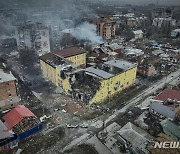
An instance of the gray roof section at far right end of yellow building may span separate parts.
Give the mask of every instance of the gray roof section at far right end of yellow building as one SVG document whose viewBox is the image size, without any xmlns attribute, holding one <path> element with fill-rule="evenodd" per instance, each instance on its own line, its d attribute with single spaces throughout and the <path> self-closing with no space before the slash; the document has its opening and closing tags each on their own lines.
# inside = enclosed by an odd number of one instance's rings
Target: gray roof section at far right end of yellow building
<svg viewBox="0 0 180 154">
<path fill-rule="evenodd" d="M 110 60 L 110 61 L 105 62 L 105 64 L 118 67 L 123 70 L 128 70 L 137 66 L 136 64 L 130 63 L 125 60 Z"/>
</svg>

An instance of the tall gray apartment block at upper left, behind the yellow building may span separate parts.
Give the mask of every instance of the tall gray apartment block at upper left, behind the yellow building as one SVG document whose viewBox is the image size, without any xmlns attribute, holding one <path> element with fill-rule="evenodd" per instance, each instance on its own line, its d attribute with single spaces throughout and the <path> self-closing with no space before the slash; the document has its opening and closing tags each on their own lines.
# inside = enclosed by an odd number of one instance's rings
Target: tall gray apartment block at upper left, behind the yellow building
<svg viewBox="0 0 180 154">
<path fill-rule="evenodd" d="M 38 55 L 50 52 L 49 30 L 42 25 L 23 25 L 15 30 L 17 48 L 34 49 Z"/>
</svg>

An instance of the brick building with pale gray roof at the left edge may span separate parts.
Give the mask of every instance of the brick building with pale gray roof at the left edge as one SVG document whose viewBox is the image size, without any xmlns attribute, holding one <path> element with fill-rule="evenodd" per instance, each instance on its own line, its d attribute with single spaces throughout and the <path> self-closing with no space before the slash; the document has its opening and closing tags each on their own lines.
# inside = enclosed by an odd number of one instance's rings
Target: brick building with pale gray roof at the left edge
<svg viewBox="0 0 180 154">
<path fill-rule="evenodd" d="M 13 108 L 20 101 L 16 78 L 3 64 L 0 62 L 0 110 Z"/>
</svg>

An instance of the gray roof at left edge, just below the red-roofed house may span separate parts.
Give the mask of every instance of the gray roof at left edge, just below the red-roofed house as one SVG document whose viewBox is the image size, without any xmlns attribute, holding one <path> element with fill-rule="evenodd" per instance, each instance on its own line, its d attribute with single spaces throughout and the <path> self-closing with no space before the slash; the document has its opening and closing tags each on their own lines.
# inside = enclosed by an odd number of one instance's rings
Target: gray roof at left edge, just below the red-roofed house
<svg viewBox="0 0 180 154">
<path fill-rule="evenodd" d="M 7 131 L 7 127 L 0 120 L 0 139 L 11 137 L 14 133 L 12 131 Z"/>
</svg>

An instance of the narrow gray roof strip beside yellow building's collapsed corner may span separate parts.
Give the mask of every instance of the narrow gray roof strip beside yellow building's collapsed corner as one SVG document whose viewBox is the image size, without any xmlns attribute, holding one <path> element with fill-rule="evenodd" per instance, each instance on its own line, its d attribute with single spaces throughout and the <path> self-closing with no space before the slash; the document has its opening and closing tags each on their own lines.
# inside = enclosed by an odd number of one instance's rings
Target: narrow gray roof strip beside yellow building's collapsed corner
<svg viewBox="0 0 180 154">
<path fill-rule="evenodd" d="M 103 79 L 111 78 L 114 76 L 113 74 L 110 74 L 108 72 L 105 72 L 103 70 L 100 70 L 100 69 L 97 69 L 94 67 L 88 67 L 85 69 L 85 71 L 88 72 L 88 74 L 90 74 L 90 75 L 95 75 L 95 76 L 103 78 Z"/>
</svg>

